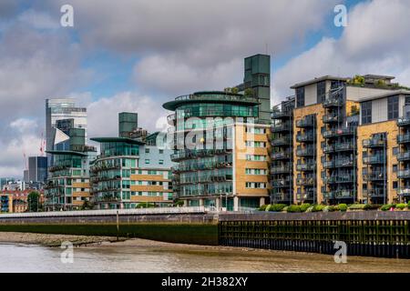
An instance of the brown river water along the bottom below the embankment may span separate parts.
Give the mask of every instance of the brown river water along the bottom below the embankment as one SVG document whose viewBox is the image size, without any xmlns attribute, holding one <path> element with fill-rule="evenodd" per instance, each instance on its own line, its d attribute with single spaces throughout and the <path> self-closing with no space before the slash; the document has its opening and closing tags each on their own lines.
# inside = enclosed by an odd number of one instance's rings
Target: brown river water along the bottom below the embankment
<svg viewBox="0 0 410 291">
<path fill-rule="evenodd" d="M 84 246 L 73 263 L 57 247 L 0 244 L 0 272 L 410 272 L 410 260 L 193 246 Z"/>
</svg>

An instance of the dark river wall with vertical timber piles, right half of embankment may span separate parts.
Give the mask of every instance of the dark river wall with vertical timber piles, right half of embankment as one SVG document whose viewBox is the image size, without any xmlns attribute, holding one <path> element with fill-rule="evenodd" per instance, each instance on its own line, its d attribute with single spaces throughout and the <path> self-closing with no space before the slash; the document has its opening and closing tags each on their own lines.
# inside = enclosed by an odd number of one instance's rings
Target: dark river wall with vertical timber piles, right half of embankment
<svg viewBox="0 0 410 291">
<path fill-rule="evenodd" d="M 219 217 L 222 246 L 410 258 L 410 212 L 258 213 Z"/>
</svg>

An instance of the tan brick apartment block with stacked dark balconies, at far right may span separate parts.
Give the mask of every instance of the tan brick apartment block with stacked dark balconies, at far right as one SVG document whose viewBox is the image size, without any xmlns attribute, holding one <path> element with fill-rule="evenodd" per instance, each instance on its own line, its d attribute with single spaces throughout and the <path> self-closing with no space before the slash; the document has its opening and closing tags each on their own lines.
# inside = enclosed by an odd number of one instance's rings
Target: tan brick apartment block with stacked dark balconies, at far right
<svg viewBox="0 0 410 291">
<path fill-rule="evenodd" d="M 405 194 L 405 178 L 401 183 L 398 179 L 407 168 L 404 157 L 398 165 L 394 154 L 389 156 L 389 149 L 395 148 L 397 153 L 406 150 L 396 142 L 396 136 L 406 132 L 397 121 L 406 91 L 399 90 L 393 79 L 326 75 L 292 85 L 293 110 L 286 107 L 288 100 L 272 112 L 273 149 L 281 149 L 278 144 L 282 149 L 292 148 L 292 160 L 286 156 L 286 162 L 292 164 L 292 190 L 285 187 L 289 172 L 278 173 L 272 166 L 273 195 L 286 194 L 289 189 L 293 203 L 336 204 L 392 202 L 399 186 Z M 289 134 L 292 142 L 286 146 L 281 137 Z M 272 156 L 272 165 L 283 164 L 281 158 Z M 281 195 L 276 199 L 281 200 Z"/>
</svg>

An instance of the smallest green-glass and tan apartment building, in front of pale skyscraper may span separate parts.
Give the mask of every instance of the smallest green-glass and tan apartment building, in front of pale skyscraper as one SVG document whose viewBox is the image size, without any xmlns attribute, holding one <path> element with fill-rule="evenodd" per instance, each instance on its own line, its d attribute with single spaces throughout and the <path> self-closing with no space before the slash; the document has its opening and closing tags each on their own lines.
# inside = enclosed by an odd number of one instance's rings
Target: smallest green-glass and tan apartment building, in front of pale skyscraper
<svg viewBox="0 0 410 291">
<path fill-rule="evenodd" d="M 89 165 L 97 156 L 94 146 L 86 146 L 85 129 L 69 130 L 69 150 L 50 150 L 54 165 L 45 186 L 46 211 L 77 210 L 90 201 Z"/>
</svg>

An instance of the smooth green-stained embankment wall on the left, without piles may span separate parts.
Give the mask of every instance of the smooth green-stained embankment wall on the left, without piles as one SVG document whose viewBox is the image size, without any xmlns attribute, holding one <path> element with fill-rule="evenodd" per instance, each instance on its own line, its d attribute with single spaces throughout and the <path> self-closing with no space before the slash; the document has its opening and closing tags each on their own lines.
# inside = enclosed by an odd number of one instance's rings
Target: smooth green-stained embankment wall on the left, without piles
<svg viewBox="0 0 410 291">
<path fill-rule="evenodd" d="M 118 216 L 0 216 L 0 231 L 27 233 L 124 236 L 171 243 L 218 245 L 217 216 L 208 214 Z"/>
</svg>

